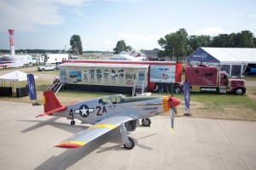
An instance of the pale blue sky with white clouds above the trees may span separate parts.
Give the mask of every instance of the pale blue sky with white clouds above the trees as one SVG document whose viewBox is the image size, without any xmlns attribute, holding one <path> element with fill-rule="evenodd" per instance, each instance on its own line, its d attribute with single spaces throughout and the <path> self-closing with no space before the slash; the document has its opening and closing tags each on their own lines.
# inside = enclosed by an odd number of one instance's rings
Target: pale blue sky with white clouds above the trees
<svg viewBox="0 0 256 170">
<path fill-rule="evenodd" d="M 158 40 L 184 28 L 189 36 L 252 31 L 255 0 L 0 0 L 0 49 L 113 51 L 119 40 L 134 50 L 160 48 Z"/>
</svg>

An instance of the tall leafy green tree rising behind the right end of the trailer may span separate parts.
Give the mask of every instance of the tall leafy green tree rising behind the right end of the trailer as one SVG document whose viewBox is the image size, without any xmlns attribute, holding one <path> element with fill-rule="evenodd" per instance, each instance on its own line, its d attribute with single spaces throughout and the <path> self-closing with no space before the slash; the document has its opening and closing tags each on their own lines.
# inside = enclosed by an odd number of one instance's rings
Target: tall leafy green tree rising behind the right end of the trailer
<svg viewBox="0 0 256 170">
<path fill-rule="evenodd" d="M 160 52 L 160 56 L 167 55 L 171 57 L 185 57 L 188 50 L 188 33 L 184 28 L 179 29 L 175 33 L 167 34 L 164 38 L 160 37 L 158 43 L 161 48 L 164 48 L 163 52 Z"/>
</svg>

